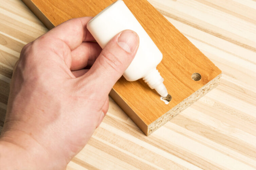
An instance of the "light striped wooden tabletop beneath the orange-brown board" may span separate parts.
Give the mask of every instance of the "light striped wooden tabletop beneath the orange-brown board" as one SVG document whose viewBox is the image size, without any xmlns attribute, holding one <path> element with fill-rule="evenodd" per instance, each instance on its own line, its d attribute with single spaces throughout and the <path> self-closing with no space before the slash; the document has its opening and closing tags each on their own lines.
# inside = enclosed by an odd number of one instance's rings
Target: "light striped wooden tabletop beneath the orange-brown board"
<svg viewBox="0 0 256 170">
<path fill-rule="evenodd" d="M 256 1 L 149 2 L 222 70 L 221 84 L 150 136 L 110 98 L 103 123 L 67 169 L 255 169 Z M 0 131 L 13 66 L 45 32 L 21 0 L 1 0 Z"/>
</svg>

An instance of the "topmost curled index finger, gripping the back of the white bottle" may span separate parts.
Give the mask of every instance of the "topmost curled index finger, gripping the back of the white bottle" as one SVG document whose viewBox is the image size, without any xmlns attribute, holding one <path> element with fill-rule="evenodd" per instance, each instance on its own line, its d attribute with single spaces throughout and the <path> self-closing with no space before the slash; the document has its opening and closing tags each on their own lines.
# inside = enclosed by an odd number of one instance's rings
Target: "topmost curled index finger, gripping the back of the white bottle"
<svg viewBox="0 0 256 170">
<path fill-rule="evenodd" d="M 44 37 L 59 39 L 65 42 L 71 50 L 77 48 L 83 41 L 95 41 L 86 28 L 93 17 L 74 18 L 51 29 Z"/>
</svg>

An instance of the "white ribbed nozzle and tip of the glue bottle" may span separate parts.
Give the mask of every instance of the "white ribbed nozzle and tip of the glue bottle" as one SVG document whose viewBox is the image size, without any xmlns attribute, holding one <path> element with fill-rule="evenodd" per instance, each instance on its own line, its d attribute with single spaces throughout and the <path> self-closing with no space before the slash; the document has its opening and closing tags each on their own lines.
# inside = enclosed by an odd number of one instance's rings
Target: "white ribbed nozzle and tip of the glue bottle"
<svg viewBox="0 0 256 170">
<path fill-rule="evenodd" d="M 155 89 L 162 97 L 168 95 L 167 89 L 163 84 L 164 79 L 161 77 L 157 68 L 154 68 L 143 77 L 143 80 L 148 84 L 151 89 Z"/>
</svg>

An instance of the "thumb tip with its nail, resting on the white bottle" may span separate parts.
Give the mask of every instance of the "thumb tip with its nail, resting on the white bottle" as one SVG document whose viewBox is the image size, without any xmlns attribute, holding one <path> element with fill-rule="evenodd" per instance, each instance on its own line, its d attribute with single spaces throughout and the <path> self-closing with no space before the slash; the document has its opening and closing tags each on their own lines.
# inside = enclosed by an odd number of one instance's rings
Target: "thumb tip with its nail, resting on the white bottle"
<svg viewBox="0 0 256 170">
<path fill-rule="evenodd" d="M 139 36 L 131 30 L 124 30 L 117 38 L 117 44 L 125 51 L 132 53 L 139 44 Z"/>
</svg>

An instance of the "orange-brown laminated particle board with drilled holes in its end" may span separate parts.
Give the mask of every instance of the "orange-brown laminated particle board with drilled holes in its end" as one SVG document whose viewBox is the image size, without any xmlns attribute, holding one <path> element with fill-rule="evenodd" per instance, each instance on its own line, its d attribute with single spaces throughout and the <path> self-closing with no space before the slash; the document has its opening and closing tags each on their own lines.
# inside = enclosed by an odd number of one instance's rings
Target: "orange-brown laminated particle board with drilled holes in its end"
<svg viewBox="0 0 256 170">
<path fill-rule="evenodd" d="M 49 29 L 71 18 L 95 16 L 114 1 L 23 0 Z M 217 86 L 221 70 L 149 2 L 124 2 L 163 54 L 157 69 L 172 100 L 166 105 L 142 79 L 128 82 L 124 77 L 114 85 L 110 96 L 149 135 Z"/>
</svg>

